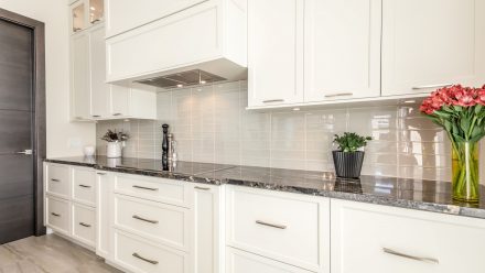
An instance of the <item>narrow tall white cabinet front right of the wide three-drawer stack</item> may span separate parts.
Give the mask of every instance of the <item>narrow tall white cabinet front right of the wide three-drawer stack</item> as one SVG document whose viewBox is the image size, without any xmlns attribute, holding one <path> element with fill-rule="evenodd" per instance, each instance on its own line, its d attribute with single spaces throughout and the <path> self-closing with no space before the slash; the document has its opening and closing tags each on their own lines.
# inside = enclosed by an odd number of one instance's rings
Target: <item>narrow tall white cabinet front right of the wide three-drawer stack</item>
<svg viewBox="0 0 485 273">
<path fill-rule="evenodd" d="M 194 185 L 194 184 L 193 184 Z M 194 215 L 194 272 L 222 273 L 223 219 L 220 186 L 195 184 L 193 186 Z"/>
</svg>

